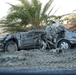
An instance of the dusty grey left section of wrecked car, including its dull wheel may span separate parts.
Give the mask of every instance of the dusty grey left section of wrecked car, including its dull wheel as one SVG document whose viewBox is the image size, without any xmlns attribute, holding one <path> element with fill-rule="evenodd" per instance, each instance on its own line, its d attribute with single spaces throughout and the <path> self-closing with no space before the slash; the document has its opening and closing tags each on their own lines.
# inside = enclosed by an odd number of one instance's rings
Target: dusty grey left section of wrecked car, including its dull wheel
<svg viewBox="0 0 76 75">
<path fill-rule="evenodd" d="M 47 49 L 55 48 L 45 30 L 30 30 L 8 34 L 0 39 L 0 49 L 14 52 L 20 49 Z"/>
</svg>

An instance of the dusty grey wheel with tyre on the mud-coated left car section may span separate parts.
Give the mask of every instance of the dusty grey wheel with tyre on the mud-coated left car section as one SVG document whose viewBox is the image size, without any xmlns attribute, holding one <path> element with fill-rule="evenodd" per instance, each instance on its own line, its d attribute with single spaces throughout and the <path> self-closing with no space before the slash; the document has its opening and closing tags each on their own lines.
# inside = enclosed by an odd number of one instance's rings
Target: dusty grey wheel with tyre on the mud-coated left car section
<svg viewBox="0 0 76 75">
<path fill-rule="evenodd" d="M 5 51 L 8 51 L 8 52 L 15 52 L 18 50 L 18 46 L 14 41 L 6 42 L 4 48 L 5 48 Z"/>
</svg>

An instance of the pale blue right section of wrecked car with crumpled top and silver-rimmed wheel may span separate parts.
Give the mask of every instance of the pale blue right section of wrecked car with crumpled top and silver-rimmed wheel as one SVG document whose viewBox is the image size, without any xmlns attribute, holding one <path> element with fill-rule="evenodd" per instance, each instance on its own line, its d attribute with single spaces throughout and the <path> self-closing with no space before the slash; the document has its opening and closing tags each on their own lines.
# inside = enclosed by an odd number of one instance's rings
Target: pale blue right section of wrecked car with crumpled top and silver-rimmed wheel
<svg viewBox="0 0 76 75">
<path fill-rule="evenodd" d="M 66 29 L 59 20 L 54 20 L 46 31 L 52 36 L 56 48 L 70 49 L 76 44 L 76 32 Z"/>
</svg>

